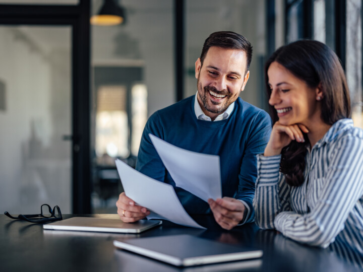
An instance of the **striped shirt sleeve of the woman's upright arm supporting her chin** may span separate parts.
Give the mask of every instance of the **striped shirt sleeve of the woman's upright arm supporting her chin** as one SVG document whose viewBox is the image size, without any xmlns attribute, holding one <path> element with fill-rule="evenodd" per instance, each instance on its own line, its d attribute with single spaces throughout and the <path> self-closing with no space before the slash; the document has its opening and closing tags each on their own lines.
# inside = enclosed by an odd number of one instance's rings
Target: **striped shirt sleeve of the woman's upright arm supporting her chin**
<svg viewBox="0 0 363 272">
<path fill-rule="evenodd" d="M 278 213 L 290 210 L 290 188 L 279 172 L 281 155 L 257 156 L 256 194 L 253 202 L 256 224 L 262 229 L 274 229 Z"/>
</svg>

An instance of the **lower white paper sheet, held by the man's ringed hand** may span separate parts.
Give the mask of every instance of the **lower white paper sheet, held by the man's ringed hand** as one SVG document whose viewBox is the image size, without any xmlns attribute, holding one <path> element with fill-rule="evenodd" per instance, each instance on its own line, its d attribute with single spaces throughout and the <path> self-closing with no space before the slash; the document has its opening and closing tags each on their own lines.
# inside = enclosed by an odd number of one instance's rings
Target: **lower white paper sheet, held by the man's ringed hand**
<svg viewBox="0 0 363 272">
<path fill-rule="evenodd" d="M 126 195 L 138 205 L 160 215 L 157 217 L 153 214 L 153 218 L 164 218 L 179 225 L 205 229 L 184 210 L 170 184 L 150 178 L 123 161 L 116 160 L 115 163 Z"/>
</svg>

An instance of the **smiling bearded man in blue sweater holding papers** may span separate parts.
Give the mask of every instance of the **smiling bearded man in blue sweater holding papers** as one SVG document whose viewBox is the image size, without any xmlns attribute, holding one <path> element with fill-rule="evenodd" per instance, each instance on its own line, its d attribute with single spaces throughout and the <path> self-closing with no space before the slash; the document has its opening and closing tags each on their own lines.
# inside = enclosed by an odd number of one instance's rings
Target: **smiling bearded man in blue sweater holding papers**
<svg viewBox="0 0 363 272">
<path fill-rule="evenodd" d="M 149 118 L 136 163 L 141 173 L 173 185 L 189 214 L 212 213 L 228 230 L 254 221 L 256 155 L 263 153 L 271 132 L 269 115 L 238 97 L 249 79 L 251 58 L 252 46 L 245 37 L 234 32 L 212 33 L 195 63 L 197 94 Z M 223 197 L 207 203 L 175 187 L 149 133 L 183 149 L 220 156 Z M 116 206 L 124 222 L 149 215 L 124 192 Z"/>
</svg>

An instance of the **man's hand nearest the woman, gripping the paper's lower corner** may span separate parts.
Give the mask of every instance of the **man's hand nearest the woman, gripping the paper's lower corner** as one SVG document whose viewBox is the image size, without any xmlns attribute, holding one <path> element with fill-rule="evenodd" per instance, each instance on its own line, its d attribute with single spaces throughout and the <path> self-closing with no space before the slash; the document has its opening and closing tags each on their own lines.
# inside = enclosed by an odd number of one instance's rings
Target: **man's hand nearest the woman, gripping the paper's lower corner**
<svg viewBox="0 0 363 272">
<path fill-rule="evenodd" d="M 208 204 L 215 221 L 226 230 L 237 226 L 244 219 L 245 213 L 247 213 L 244 203 L 231 197 L 225 196 L 217 198 L 215 201 L 209 198 Z"/>
</svg>

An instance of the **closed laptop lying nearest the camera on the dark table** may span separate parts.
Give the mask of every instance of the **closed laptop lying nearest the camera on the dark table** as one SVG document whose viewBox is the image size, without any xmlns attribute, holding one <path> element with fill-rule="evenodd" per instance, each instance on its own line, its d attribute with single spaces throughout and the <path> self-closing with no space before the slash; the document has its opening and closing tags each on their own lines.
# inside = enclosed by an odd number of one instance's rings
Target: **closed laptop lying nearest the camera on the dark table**
<svg viewBox="0 0 363 272">
<path fill-rule="evenodd" d="M 113 245 L 177 266 L 260 258 L 260 249 L 224 244 L 192 235 L 114 240 Z"/>
</svg>

